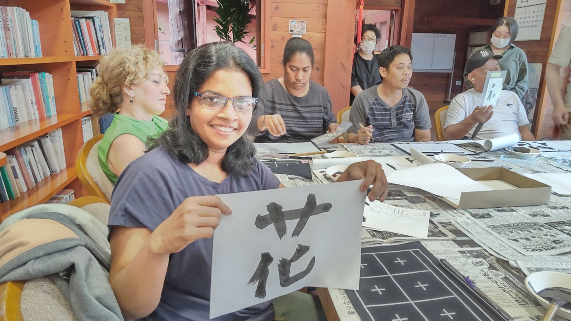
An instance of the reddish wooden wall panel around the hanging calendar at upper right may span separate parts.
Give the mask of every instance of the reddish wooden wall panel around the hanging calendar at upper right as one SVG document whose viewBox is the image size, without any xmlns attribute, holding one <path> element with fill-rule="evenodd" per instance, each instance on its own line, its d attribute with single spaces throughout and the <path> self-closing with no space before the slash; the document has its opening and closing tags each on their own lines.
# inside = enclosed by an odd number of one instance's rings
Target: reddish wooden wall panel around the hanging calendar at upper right
<svg viewBox="0 0 571 321">
<path fill-rule="evenodd" d="M 506 0 L 506 14 L 513 17 L 516 12 L 516 0 Z M 545 5 L 545 17 L 543 28 L 541 29 L 541 39 L 537 41 L 516 41 L 515 45 L 525 51 L 529 63 L 541 63 L 541 78 L 537 93 L 536 111 L 533 117 L 532 133 L 536 138 L 551 137 L 557 138 L 557 130 L 551 120 L 553 105 L 547 94 L 545 85 L 545 66 L 549 59 L 549 54 L 553 47 L 554 37 L 560 25 L 558 25 L 558 14 L 561 3 L 565 0 L 547 1 Z M 549 113 L 549 114 L 547 114 Z M 552 128 L 553 127 L 553 128 Z"/>
</svg>

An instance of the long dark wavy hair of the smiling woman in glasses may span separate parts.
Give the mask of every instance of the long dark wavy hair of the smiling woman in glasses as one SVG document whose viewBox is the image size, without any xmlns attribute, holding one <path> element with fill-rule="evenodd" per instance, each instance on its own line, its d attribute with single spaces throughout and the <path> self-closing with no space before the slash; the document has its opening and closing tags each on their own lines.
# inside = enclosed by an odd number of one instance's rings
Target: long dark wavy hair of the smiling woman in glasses
<svg viewBox="0 0 571 321">
<path fill-rule="evenodd" d="M 175 153 L 183 163 L 200 164 L 208 158 L 208 147 L 192 129 L 190 117 L 186 114 L 195 91 L 219 69 L 242 71 L 252 86 L 252 97 L 259 97 L 262 90 L 262 74 L 252 58 L 230 42 L 212 42 L 192 50 L 182 61 L 174 83 L 176 116 L 170 121 L 168 129 L 158 138 L 149 139 L 149 150 L 163 147 Z M 198 98 L 197 98 L 198 99 Z M 252 112 L 252 122 L 248 132 L 254 133 L 256 119 L 262 115 L 258 103 Z M 245 176 L 252 170 L 256 147 L 244 134 L 226 150 L 222 159 L 222 170 L 229 175 Z"/>
</svg>

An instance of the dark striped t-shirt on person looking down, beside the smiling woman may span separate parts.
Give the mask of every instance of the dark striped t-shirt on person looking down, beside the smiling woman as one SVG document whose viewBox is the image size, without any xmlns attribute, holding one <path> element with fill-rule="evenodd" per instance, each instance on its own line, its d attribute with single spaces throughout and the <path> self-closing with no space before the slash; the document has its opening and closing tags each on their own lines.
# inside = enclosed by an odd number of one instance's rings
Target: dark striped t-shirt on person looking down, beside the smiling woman
<svg viewBox="0 0 571 321">
<path fill-rule="evenodd" d="M 286 124 L 286 135 L 272 136 L 264 131 L 256 142 L 307 142 L 327 131 L 329 124 L 335 122 L 331 109 L 331 97 L 325 87 L 309 81 L 309 91 L 304 97 L 296 97 L 287 92 L 278 79 L 272 79 L 264 85 L 265 93 L 260 95 L 267 115 L 282 115 Z"/>
</svg>

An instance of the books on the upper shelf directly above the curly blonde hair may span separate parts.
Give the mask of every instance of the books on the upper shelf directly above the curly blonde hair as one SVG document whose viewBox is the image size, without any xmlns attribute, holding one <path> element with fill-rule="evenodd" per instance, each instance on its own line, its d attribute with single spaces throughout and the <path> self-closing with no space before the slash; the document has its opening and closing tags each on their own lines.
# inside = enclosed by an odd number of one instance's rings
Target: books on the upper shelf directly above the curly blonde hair
<svg viewBox="0 0 571 321">
<path fill-rule="evenodd" d="M 106 55 L 112 50 L 106 11 L 71 10 L 75 55 Z"/>
</svg>

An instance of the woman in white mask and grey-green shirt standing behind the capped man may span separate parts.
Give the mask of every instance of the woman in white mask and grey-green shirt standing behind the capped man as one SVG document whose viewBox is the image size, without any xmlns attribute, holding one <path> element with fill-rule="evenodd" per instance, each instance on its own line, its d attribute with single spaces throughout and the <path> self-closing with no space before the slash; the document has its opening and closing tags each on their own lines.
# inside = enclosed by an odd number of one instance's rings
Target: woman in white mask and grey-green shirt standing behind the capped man
<svg viewBox="0 0 571 321">
<path fill-rule="evenodd" d="M 513 91 L 523 100 L 525 93 L 528 91 L 528 58 L 525 51 L 513 45 L 513 41 L 517 37 L 517 22 L 512 17 L 500 18 L 490 28 L 490 43 L 484 47 L 477 47 L 472 50 L 472 55 L 478 50 L 488 48 L 495 55 L 501 55 L 503 58 L 498 60 L 501 70 L 508 73 L 505 76 L 504 90 Z M 467 89 L 471 89 L 474 85 L 468 80 L 468 75 L 464 71 L 464 84 Z"/>
</svg>

